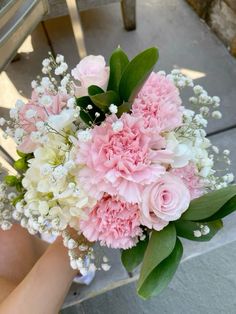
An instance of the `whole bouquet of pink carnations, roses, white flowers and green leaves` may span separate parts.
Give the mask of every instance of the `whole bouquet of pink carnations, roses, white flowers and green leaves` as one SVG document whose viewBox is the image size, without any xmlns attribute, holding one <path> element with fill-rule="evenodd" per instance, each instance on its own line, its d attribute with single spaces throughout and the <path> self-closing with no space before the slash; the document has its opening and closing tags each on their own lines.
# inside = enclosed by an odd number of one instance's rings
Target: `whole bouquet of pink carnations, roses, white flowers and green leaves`
<svg viewBox="0 0 236 314">
<path fill-rule="evenodd" d="M 90 55 L 68 73 L 64 57 L 49 54 L 31 99 L 0 119 L 19 155 L 18 174 L 0 186 L 1 227 L 62 235 L 81 274 L 111 267 L 97 262 L 94 243 L 121 249 L 127 271 L 141 264 L 144 299 L 173 277 L 180 238 L 210 240 L 236 208 L 230 152 L 205 132 L 207 118 L 221 118 L 219 97 L 177 69 L 153 72 L 157 60 L 155 47 L 131 61 L 117 48 L 109 66 Z"/>
</svg>

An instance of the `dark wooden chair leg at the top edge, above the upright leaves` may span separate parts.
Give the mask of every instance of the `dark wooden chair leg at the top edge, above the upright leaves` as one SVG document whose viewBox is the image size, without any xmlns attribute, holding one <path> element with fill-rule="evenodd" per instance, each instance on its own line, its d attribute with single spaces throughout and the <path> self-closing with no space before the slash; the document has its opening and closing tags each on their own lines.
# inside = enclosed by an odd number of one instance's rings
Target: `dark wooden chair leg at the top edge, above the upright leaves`
<svg viewBox="0 0 236 314">
<path fill-rule="evenodd" d="M 125 29 L 136 29 L 136 0 L 121 0 L 121 11 Z"/>
</svg>

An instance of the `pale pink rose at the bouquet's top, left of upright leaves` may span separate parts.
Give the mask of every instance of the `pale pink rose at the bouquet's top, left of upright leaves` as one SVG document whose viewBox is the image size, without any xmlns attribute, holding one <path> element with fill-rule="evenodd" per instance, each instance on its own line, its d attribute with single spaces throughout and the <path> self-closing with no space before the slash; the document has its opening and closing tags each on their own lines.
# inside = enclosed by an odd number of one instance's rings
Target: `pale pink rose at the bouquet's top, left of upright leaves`
<svg viewBox="0 0 236 314">
<path fill-rule="evenodd" d="M 72 76 L 80 81 L 80 86 L 75 85 L 75 95 L 77 97 L 88 95 L 88 87 L 96 85 L 106 90 L 109 67 L 103 56 L 87 56 L 71 71 Z"/>
</svg>

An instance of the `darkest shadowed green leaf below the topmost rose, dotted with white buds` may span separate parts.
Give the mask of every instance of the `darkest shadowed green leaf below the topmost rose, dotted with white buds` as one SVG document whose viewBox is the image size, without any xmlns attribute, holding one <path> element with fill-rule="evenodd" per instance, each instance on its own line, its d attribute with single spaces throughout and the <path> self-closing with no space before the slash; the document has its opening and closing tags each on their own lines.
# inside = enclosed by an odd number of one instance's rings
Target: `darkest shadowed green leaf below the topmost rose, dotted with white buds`
<svg viewBox="0 0 236 314">
<path fill-rule="evenodd" d="M 77 98 L 76 104 L 77 106 L 80 107 L 80 118 L 87 125 L 91 126 L 91 124 L 95 121 L 95 119 L 97 122 L 103 121 L 105 119 L 104 113 L 93 104 L 89 96 L 83 96 L 83 97 Z M 88 110 L 87 109 L 88 105 L 91 105 L 93 108 L 91 110 Z M 95 117 L 95 112 L 100 113 L 99 118 Z"/>
</svg>

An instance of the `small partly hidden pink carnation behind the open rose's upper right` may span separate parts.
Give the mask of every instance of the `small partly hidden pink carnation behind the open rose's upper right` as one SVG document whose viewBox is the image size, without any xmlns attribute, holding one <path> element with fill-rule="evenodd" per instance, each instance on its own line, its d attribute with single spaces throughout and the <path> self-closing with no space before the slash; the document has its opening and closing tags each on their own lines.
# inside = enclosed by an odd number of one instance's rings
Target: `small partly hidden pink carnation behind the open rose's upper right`
<svg viewBox="0 0 236 314">
<path fill-rule="evenodd" d="M 170 173 L 182 179 L 186 187 L 189 189 L 191 200 L 203 195 L 204 186 L 200 177 L 197 175 L 197 169 L 193 163 L 182 168 L 172 169 Z"/>
</svg>

